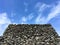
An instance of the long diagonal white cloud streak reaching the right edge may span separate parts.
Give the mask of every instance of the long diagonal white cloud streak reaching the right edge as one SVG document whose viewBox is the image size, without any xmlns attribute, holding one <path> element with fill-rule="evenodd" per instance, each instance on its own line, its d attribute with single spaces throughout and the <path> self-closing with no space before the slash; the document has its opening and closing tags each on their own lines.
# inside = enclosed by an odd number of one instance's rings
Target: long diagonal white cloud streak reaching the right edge
<svg viewBox="0 0 60 45">
<path fill-rule="evenodd" d="M 60 13 L 60 2 L 59 2 L 56 6 L 54 6 L 54 7 L 52 8 L 51 12 L 50 12 L 49 15 L 48 15 L 47 20 L 49 21 L 49 20 L 51 20 L 52 18 L 58 16 L 59 13 Z"/>
</svg>

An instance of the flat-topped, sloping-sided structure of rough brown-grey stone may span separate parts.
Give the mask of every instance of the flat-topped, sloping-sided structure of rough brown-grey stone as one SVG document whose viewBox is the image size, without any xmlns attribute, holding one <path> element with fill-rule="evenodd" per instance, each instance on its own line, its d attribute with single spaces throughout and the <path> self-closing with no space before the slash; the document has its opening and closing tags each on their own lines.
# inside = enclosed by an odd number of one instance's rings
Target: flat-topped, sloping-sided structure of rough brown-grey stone
<svg viewBox="0 0 60 45">
<path fill-rule="evenodd" d="M 60 37 L 50 24 L 10 24 L 0 45 L 59 45 Z"/>
</svg>

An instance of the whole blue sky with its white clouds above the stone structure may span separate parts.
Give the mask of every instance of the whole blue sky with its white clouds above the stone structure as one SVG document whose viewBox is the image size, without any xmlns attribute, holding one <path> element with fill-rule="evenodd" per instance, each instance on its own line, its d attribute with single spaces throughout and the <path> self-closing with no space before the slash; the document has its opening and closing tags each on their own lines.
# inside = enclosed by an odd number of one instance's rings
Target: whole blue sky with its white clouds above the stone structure
<svg viewBox="0 0 60 45">
<path fill-rule="evenodd" d="M 60 35 L 60 0 L 0 0 L 0 35 L 9 24 L 48 24 Z"/>
</svg>

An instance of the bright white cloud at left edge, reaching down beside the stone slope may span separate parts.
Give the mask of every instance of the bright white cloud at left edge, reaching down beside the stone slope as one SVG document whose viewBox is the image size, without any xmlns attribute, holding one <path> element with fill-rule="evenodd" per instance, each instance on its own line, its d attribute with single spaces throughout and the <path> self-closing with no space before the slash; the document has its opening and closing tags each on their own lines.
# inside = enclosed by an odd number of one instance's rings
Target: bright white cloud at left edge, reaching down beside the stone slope
<svg viewBox="0 0 60 45">
<path fill-rule="evenodd" d="M 0 13 L 0 35 L 3 34 L 6 27 L 11 23 L 10 19 L 7 17 L 7 13 Z"/>
</svg>

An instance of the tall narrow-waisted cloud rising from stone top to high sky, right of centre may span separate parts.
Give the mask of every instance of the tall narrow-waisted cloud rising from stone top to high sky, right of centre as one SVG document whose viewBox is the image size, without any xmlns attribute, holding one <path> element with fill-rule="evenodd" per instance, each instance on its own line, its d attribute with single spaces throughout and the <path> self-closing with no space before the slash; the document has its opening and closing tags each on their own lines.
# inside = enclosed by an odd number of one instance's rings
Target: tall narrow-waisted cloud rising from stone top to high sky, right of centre
<svg viewBox="0 0 60 45">
<path fill-rule="evenodd" d="M 38 2 L 36 4 L 35 8 L 38 8 L 38 10 L 37 10 L 38 11 L 38 16 L 35 19 L 36 24 L 45 24 L 45 23 L 47 23 L 46 18 L 44 16 L 42 17 L 42 13 L 46 8 L 49 8 L 49 7 L 50 7 L 50 5 L 47 5 L 47 4 L 44 4 L 44 3 L 41 4 L 40 2 Z"/>
</svg>

